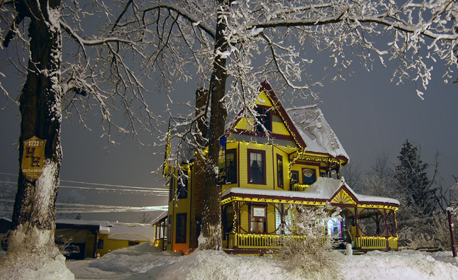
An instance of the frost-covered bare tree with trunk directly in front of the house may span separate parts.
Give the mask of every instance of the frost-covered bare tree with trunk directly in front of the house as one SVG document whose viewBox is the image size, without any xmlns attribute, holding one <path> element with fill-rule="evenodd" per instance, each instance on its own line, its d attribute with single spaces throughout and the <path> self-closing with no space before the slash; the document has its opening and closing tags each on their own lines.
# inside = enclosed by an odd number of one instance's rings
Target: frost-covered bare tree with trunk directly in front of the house
<svg viewBox="0 0 458 280">
<path fill-rule="evenodd" d="M 191 66 L 199 86 L 209 89 L 206 110 L 196 117 L 190 113 L 188 121 L 179 123 L 188 125 L 187 134 L 196 138 L 199 132 L 194 133 L 191 126 L 207 116 L 211 108 L 201 232 L 206 241 L 202 249 L 221 248 L 220 186 L 216 178 L 218 140 L 225 133 L 225 118 L 228 113 L 242 111 L 256 120 L 252 104 L 259 94 L 257 81 L 268 79 L 276 84 L 282 98 L 287 92 L 298 99 L 316 98 L 313 86 L 322 84 L 311 82 L 306 74 L 313 62 L 307 56 L 311 47 L 330 51 L 330 65 L 337 67 L 334 79 L 342 78 L 342 70 L 350 67 L 349 52 L 367 69 L 371 69 L 374 57 L 382 64 L 384 57 L 397 60 L 393 79 L 415 79 L 423 87 L 431 77 L 431 62 L 445 61 L 447 81 L 452 78 L 451 68 L 457 65 L 454 46 L 458 8 L 452 0 L 403 4 L 363 0 L 183 0 L 144 4 L 126 0 L 125 4 L 129 9 L 116 30 L 119 34 L 144 30 L 143 40 L 149 40 L 152 48 L 148 67 L 160 72 L 162 89 L 167 91 L 174 82 L 188 79 Z M 388 38 L 383 40 L 389 41 L 386 48 L 372 41 L 378 41 L 382 34 Z M 423 48 L 424 55 L 420 52 Z M 423 98 L 423 93 L 416 91 Z M 171 137 L 185 138 L 183 133 Z"/>
</svg>

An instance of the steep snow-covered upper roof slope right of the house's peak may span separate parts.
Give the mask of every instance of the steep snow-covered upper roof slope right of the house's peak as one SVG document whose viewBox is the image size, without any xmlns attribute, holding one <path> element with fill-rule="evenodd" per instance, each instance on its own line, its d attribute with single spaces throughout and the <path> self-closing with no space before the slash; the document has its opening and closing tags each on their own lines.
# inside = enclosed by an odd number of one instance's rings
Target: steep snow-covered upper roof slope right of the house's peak
<svg viewBox="0 0 458 280">
<path fill-rule="evenodd" d="M 306 142 L 306 150 L 321 152 L 350 160 L 333 129 L 316 105 L 286 109 L 299 134 Z"/>
</svg>

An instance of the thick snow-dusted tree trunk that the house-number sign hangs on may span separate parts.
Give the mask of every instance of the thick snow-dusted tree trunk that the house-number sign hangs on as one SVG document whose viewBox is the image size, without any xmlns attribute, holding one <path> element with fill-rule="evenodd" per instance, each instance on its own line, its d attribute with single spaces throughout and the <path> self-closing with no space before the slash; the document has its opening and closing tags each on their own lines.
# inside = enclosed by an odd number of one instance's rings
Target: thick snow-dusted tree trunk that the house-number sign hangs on
<svg viewBox="0 0 458 280">
<path fill-rule="evenodd" d="M 26 5 L 19 7 L 23 9 L 22 12 L 26 13 L 26 16 L 32 16 L 28 27 L 30 37 L 28 75 L 19 99 L 22 119 L 19 137 L 18 192 L 13 208 L 7 260 L 1 263 L 0 270 L 4 276 L 5 273 L 9 275 L 10 279 L 30 278 L 31 275 L 41 279 L 71 279 L 73 274 L 66 271 L 65 258 L 57 250 L 54 241 L 55 201 L 62 159 L 60 145 L 62 35 L 59 18 L 55 18 L 60 13 L 60 0 L 26 2 Z M 25 152 L 23 141 L 33 136 L 46 140 L 44 158 L 34 157 L 35 166 L 40 164 L 43 167 L 43 172 L 38 179 L 30 179 L 24 176 L 22 171 Z M 55 261 L 60 262 L 60 269 L 54 267 L 55 271 L 45 271 L 45 267 Z M 11 266 L 11 269 L 4 271 L 6 266 Z M 36 274 L 30 274 L 33 270 L 37 271 Z"/>
</svg>

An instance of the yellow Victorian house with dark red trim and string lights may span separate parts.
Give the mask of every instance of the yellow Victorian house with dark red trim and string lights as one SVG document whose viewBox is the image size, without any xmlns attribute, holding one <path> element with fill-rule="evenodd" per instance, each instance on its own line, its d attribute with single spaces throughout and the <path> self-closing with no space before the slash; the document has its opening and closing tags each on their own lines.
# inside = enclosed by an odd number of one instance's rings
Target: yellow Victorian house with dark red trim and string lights
<svg viewBox="0 0 458 280">
<path fill-rule="evenodd" d="M 205 92 L 197 91 L 198 110 L 204 103 L 201 96 Z M 268 133 L 242 111 L 228 118 L 232 125 L 226 130 L 225 150 L 220 154 L 223 247 L 227 252 L 272 249 L 285 234 L 281 225 L 294 219 L 291 208 L 323 206 L 327 201 L 342 208 L 343 218 L 328 224 L 330 234 L 351 242 L 355 250 L 398 248 L 399 202 L 356 194 L 340 179 L 340 168 L 350 159 L 318 106 L 286 110 L 264 82 L 255 110 Z M 203 123 L 197 125 L 205 135 Z M 161 222 L 168 223 L 167 250 L 176 252 L 197 246 L 203 202 L 203 160 L 192 141 L 185 142 L 188 146 L 178 152 L 177 141 L 169 139 L 164 164 L 169 211 Z M 333 174 L 337 179 L 332 179 Z"/>
</svg>

